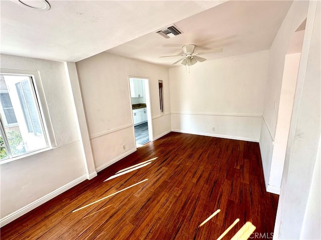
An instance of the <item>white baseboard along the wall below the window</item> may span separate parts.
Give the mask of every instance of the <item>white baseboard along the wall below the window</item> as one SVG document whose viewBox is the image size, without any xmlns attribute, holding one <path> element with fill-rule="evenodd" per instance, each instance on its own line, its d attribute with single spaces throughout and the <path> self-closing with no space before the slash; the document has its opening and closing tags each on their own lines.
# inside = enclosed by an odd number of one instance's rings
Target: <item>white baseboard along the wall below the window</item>
<svg viewBox="0 0 321 240">
<path fill-rule="evenodd" d="M 41 204 L 44 204 L 46 201 L 49 201 L 50 199 L 54 198 L 55 196 L 58 196 L 59 194 L 63 193 L 64 191 L 72 188 L 73 186 L 79 184 L 80 182 L 87 179 L 87 175 L 83 175 L 81 177 L 78 177 L 77 179 L 67 183 L 66 185 L 63 185 L 59 187 L 58 189 L 40 197 L 39 199 L 29 203 L 28 205 L 18 209 L 17 211 L 14 211 L 13 213 L 10 213 L 9 215 L 3 217 L 0 219 L 0 226 L 3 227 L 4 225 L 12 222 L 13 220 L 17 219 L 18 217 L 26 214 L 27 212 L 35 209 L 36 207 L 40 206 Z"/>
</svg>

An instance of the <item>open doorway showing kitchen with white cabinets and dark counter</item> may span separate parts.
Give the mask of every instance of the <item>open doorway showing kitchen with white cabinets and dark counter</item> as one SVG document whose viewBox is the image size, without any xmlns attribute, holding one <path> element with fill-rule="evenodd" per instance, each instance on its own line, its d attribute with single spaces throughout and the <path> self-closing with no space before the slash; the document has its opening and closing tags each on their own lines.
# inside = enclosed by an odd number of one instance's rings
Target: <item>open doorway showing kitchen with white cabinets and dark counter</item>
<svg viewBox="0 0 321 240">
<path fill-rule="evenodd" d="M 140 147 L 152 140 L 149 78 L 128 78 L 136 147 Z"/>
</svg>

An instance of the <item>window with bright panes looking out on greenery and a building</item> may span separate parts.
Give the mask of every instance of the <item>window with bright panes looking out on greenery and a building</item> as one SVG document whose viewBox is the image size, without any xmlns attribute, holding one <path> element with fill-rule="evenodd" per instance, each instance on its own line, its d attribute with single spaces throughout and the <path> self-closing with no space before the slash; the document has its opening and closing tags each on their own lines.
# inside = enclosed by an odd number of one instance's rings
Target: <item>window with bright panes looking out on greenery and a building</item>
<svg viewBox="0 0 321 240">
<path fill-rule="evenodd" d="M 0 160 L 48 147 L 32 75 L 0 75 Z"/>
</svg>

